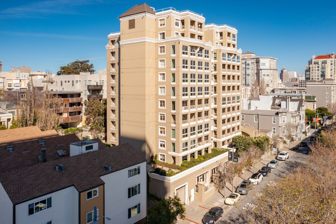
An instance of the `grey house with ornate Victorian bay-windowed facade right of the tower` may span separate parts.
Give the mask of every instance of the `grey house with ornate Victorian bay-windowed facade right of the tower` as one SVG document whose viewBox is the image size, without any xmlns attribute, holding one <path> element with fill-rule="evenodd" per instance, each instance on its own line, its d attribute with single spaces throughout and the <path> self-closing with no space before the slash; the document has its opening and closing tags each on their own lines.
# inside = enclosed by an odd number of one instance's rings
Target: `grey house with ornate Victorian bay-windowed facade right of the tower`
<svg viewBox="0 0 336 224">
<path fill-rule="evenodd" d="M 269 104 L 268 98 L 260 98 L 259 104 L 264 107 L 260 109 L 249 108 L 242 110 L 242 125 L 252 126 L 271 138 L 280 136 L 288 141 L 286 137 L 286 123 L 291 122 L 291 132 L 295 141 L 304 138 L 302 132 L 305 130 L 305 104 L 303 99 L 290 99 L 284 97 L 272 97 Z M 252 101 L 249 104 L 253 104 Z M 270 109 L 269 109 L 270 108 Z"/>
</svg>

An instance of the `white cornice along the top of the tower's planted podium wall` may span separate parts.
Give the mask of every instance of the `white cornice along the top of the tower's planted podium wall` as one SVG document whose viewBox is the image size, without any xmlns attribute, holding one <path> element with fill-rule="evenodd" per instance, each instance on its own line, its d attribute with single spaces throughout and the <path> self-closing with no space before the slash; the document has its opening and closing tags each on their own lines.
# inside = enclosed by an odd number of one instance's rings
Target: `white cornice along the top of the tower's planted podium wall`
<svg viewBox="0 0 336 224">
<path fill-rule="evenodd" d="M 223 159 L 225 157 L 228 157 L 228 152 L 225 152 L 223 154 L 215 156 L 212 159 L 209 159 L 209 160 L 207 160 L 205 162 L 202 162 L 201 164 L 198 164 L 196 166 L 193 166 L 193 167 L 191 167 L 191 168 L 189 168 L 189 169 L 187 169 L 185 171 L 182 171 L 181 173 L 178 173 L 178 174 L 176 174 L 176 175 L 174 175 L 172 177 L 160 176 L 160 175 L 155 174 L 155 173 L 148 173 L 148 175 L 151 178 L 153 178 L 153 179 L 164 181 L 164 182 L 167 182 L 167 183 L 172 183 L 174 181 L 177 181 L 177 180 L 179 180 L 181 178 L 184 178 L 184 177 L 186 177 L 186 176 L 188 176 L 188 175 L 190 175 L 190 174 L 192 174 L 194 172 L 197 172 L 197 171 L 203 169 L 205 166 L 211 165 L 213 163 L 217 163 L 218 160 L 221 160 L 221 159 Z"/>
</svg>

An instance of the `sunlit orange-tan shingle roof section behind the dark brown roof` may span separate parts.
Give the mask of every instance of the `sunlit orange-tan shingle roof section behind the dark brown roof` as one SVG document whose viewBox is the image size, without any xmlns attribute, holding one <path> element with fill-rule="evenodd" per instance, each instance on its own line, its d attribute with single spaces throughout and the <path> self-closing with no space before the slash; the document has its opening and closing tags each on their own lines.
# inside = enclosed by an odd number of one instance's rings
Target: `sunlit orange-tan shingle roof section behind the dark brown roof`
<svg viewBox="0 0 336 224">
<path fill-rule="evenodd" d="M 20 129 L 20 128 L 15 128 Z M 12 129 L 14 130 L 14 129 Z M 32 140 L 43 140 L 44 138 L 56 137 L 59 136 L 55 130 L 47 130 L 44 132 L 35 132 L 35 133 L 26 133 L 24 132 L 22 135 L 13 135 L 7 137 L 0 137 L 0 146 L 8 146 L 14 143 L 25 141 L 32 141 Z"/>
</svg>

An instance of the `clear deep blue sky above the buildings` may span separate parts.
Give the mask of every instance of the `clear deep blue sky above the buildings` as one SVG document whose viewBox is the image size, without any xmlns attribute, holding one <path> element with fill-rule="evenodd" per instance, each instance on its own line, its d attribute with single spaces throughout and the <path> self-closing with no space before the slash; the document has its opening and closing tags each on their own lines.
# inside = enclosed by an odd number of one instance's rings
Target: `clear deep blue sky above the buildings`
<svg viewBox="0 0 336 224">
<path fill-rule="evenodd" d="M 2 71 L 28 66 L 50 69 L 90 60 L 106 69 L 107 35 L 119 31 L 117 17 L 141 1 L 2 1 Z M 174 7 L 203 13 L 206 23 L 238 30 L 237 46 L 257 56 L 278 58 L 277 68 L 304 74 L 312 54 L 336 51 L 336 2 L 328 1 L 146 1 L 155 9 Z"/>
</svg>

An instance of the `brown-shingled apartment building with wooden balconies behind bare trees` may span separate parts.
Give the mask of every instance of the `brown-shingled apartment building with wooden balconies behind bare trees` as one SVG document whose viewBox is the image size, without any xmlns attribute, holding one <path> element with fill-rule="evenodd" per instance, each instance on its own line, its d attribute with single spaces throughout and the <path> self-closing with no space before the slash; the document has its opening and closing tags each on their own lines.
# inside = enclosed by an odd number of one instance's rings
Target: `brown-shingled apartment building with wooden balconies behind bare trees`
<svg viewBox="0 0 336 224">
<path fill-rule="evenodd" d="M 61 125 L 64 128 L 68 127 L 81 127 L 83 121 L 83 98 L 82 92 L 78 91 L 49 91 L 54 98 L 59 98 L 63 104 L 62 108 L 59 108 L 59 116 L 61 117 Z M 4 91 L 4 101 L 19 105 L 26 98 L 27 91 Z M 35 106 L 43 106 L 44 91 L 34 91 L 36 100 Z"/>
</svg>

